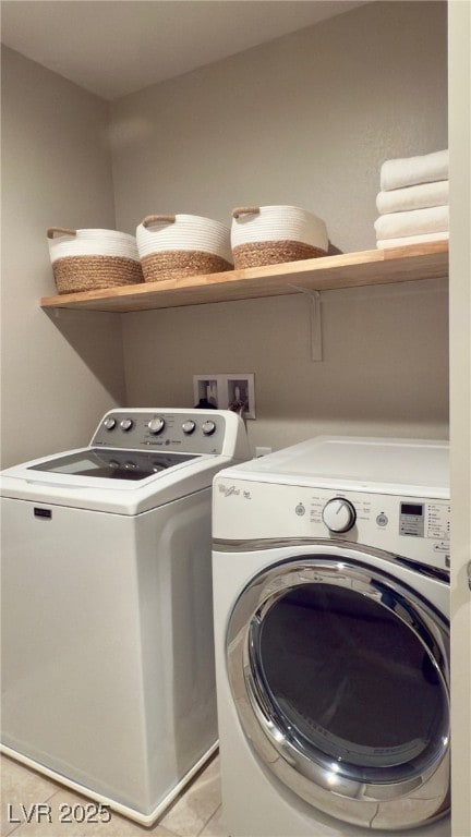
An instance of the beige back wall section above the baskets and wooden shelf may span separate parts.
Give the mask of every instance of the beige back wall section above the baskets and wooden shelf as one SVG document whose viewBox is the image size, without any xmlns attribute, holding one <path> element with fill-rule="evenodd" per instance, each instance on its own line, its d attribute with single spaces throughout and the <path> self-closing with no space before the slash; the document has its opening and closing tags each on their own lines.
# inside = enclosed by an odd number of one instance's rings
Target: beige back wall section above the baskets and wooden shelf
<svg viewBox="0 0 471 837">
<path fill-rule="evenodd" d="M 269 3 L 267 14 L 269 14 Z M 375 245 L 379 166 L 447 145 L 446 3 L 375 2 L 111 106 L 119 229 L 294 204 Z"/>
</svg>

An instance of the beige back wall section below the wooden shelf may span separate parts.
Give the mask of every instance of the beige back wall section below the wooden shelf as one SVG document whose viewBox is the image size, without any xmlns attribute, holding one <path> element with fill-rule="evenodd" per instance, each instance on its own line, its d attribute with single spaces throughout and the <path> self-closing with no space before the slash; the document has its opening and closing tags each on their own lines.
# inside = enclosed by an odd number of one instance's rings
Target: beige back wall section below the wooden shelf
<svg viewBox="0 0 471 837">
<path fill-rule="evenodd" d="M 322 295 L 313 363 L 301 295 L 125 316 L 133 403 L 192 405 L 194 373 L 255 372 L 252 446 L 318 433 L 443 437 L 447 293 L 442 280 Z"/>
</svg>

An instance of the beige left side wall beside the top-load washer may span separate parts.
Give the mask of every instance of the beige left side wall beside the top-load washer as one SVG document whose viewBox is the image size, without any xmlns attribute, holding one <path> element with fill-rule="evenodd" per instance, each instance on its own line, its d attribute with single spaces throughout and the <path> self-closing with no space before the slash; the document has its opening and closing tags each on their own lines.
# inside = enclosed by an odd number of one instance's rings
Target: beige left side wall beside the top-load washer
<svg viewBox="0 0 471 837">
<path fill-rule="evenodd" d="M 78 447 L 125 399 L 121 323 L 59 312 L 46 230 L 114 227 L 108 105 L 2 47 L 2 466 Z"/>
</svg>

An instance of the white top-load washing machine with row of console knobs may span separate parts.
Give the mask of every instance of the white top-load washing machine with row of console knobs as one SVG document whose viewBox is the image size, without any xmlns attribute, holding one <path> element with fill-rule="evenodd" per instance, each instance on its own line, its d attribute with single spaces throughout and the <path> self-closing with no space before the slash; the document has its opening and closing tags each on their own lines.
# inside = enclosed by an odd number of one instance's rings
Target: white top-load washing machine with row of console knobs
<svg viewBox="0 0 471 837">
<path fill-rule="evenodd" d="M 86 448 L 3 471 L 2 749 L 152 823 L 214 751 L 216 410 L 112 410 Z"/>
</svg>

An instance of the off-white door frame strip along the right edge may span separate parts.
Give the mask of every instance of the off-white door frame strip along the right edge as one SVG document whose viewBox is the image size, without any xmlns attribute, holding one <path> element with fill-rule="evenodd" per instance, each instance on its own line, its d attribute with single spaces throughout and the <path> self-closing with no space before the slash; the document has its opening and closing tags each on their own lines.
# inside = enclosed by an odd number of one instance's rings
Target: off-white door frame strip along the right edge
<svg viewBox="0 0 471 837">
<path fill-rule="evenodd" d="M 452 837 L 471 834 L 471 4 L 449 4 Z"/>
</svg>

